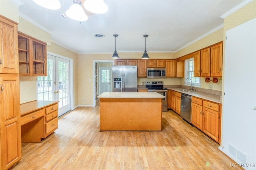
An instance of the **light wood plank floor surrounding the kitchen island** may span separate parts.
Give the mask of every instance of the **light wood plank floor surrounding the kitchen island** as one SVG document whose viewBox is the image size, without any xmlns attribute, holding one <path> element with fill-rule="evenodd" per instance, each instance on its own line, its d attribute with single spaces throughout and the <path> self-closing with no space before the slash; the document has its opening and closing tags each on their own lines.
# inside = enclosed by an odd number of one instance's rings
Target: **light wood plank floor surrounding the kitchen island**
<svg viewBox="0 0 256 170">
<path fill-rule="evenodd" d="M 59 118 L 42 143 L 22 143 L 13 170 L 227 170 L 218 144 L 173 111 L 162 112 L 162 131 L 99 131 L 99 107 L 78 107 Z"/>
</svg>

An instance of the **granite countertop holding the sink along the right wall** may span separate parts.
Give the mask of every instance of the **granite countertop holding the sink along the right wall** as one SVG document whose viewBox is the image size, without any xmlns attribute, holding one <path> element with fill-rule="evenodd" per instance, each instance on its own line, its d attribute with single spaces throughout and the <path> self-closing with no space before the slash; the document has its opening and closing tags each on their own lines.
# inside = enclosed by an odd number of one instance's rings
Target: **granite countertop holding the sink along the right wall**
<svg viewBox="0 0 256 170">
<path fill-rule="evenodd" d="M 168 89 L 221 104 L 221 96 L 218 96 L 216 94 L 209 94 L 209 93 L 197 92 L 197 91 L 195 91 L 195 92 L 194 91 L 190 91 L 190 92 L 180 91 L 181 89 L 184 89 L 184 88 L 168 88 Z"/>
</svg>

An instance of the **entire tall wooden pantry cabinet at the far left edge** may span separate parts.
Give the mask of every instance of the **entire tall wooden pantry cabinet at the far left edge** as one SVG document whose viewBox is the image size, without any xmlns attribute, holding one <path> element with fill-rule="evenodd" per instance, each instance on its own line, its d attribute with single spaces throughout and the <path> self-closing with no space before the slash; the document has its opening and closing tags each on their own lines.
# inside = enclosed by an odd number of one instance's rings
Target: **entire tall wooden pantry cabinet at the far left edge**
<svg viewBox="0 0 256 170">
<path fill-rule="evenodd" d="M 17 23 L 0 15 L 0 169 L 21 159 Z"/>
</svg>

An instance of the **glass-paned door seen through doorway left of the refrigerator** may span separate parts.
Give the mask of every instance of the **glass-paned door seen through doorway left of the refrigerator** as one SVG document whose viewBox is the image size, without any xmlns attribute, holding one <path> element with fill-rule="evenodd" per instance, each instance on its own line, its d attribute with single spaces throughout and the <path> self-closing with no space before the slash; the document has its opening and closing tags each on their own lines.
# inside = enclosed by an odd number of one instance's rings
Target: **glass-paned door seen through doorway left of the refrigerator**
<svg viewBox="0 0 256 170">
<path fill-rule="evenodd" d="M 100 67 L 99 94 L 111 92 L 111 68 Z"/>
</svg>

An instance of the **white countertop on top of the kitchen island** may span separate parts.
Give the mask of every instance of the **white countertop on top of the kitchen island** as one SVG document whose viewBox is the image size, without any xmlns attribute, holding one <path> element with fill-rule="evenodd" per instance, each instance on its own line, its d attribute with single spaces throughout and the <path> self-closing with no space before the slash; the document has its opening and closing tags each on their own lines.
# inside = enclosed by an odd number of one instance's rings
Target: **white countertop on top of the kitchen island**
<svg viewBox="0 0 256 170">
<path fill-rule="evenodd" d="M 104 92 L 98 96 L 98 98 L 164 98 L 163 95 L 150 92 Z"/>
</svg>

